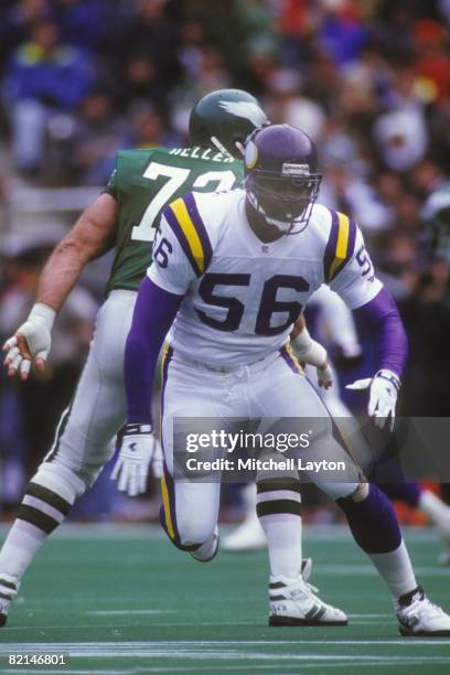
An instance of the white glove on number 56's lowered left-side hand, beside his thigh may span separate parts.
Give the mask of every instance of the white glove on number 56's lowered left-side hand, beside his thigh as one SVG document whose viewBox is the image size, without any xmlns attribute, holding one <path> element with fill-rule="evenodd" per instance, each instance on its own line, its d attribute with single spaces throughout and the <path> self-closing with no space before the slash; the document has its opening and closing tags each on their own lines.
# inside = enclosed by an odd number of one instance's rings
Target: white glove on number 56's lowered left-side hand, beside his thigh
<svg viewBox="0 0 450 675">
<path fill-rule="evenodd" d="M 162 451 L 153 436 L 151 425 L 126 425 L 119 433 L 120 450 L 113 469 L 111 480 L 117 481 L 119 492 L 129 496 L 142 494 L 152 461 L 154 474 L 162 468 Z"/>
</svg>

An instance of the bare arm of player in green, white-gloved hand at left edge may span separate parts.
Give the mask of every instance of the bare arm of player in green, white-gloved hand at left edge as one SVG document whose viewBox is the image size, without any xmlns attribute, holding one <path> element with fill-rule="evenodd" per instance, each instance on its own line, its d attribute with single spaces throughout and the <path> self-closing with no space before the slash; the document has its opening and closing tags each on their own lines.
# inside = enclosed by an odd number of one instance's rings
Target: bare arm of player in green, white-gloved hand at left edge
<svg viewBox="0 0 450 675">
<path fill-rule="evenodd" d="M 56 313 L 87 262 L 114 245 L 117 210 L 114 196 L 100 194 L 53 250 L 26 321 L 3 345 L 9 376 L 19 372 L 21 379 L 26 379 L 33 361 L 39 371 L 44 369 Z"/>
</svg>

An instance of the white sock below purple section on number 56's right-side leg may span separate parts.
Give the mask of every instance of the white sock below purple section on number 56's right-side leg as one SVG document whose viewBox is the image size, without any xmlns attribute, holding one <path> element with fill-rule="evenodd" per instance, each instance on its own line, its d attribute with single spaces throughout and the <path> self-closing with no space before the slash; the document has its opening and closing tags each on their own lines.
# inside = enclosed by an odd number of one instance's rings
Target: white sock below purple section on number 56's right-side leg
<svg viewBox="0 0 450 675">
<path fill-rule="evenodd" d="M 401 540 L 399 547 L 389 553 L 368 554 L 368 556 L 379 575 L 386 581 L 393 596 L 394 604 L 397 607 L 398 598 L 417 588 L 416 577 L 405 543 Z"/>
</svg>

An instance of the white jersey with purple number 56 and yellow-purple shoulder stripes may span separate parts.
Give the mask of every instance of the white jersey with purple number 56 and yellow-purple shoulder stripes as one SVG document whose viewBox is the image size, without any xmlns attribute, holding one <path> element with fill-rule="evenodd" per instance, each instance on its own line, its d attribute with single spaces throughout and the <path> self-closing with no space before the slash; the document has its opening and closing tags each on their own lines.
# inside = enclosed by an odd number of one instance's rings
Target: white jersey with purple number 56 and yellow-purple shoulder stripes
<svg viewBox="0 0 450 675">
<path fill-rule="evenodd" d="M 308 227 L 262 243 L 245 191 L 193 193 L 163 213 L 150 279 L 185 296 L 169 334 L 181 355 L 246 365 L 283 347 L 310 296 L 329 283 L 351 309 L 381 290 L 357 225 L 314 205 Z"/>
</svg>

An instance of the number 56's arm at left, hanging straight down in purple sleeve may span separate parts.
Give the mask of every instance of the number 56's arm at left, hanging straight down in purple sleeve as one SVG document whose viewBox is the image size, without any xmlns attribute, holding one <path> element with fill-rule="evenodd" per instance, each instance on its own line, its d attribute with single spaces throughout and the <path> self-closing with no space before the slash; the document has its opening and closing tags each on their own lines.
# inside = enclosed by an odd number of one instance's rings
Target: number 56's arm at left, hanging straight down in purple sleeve
<svg viewBox="0 0 450 675">
<path fill-rule="evenodd" d="M 171 217 L 176 228 L 173 214 Z M 151 400 L 158 357 L 194 277 L 163 215 L 153 244 L 153 264 L 139 288 L 125 350 L 127 424 L 119 435 L 120 450 L 111 479 L 117 481 L 118 490 L 130 496 L 146 491 L 156 452 Z"/>
</svg>

